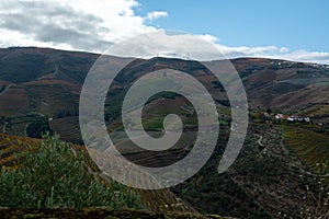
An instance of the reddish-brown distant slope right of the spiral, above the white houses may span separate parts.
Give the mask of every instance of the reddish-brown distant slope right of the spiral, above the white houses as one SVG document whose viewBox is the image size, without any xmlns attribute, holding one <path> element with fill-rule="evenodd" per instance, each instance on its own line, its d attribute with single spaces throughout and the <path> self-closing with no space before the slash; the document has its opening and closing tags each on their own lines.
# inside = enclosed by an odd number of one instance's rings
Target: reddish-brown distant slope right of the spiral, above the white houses
<svg viewBox="0 0 329 219">
<path fill-rule="evenodd" d="M 271 59 L 235 59 L 251 107 L 293 112 L 328 104 L 329 66 Z"/>
</svg>

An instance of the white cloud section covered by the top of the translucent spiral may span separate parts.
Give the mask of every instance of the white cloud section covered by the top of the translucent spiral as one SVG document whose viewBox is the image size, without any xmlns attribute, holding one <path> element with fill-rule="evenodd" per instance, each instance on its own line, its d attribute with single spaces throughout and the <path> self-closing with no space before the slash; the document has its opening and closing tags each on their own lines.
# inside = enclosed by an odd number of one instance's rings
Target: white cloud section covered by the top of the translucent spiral
<svg viewBox="0 0 329 219">
<path fill-rule="evenodd" d="M 160 56 L 195 60 L 224 59 L 216 45 L 209 42 L 209 37 L 206 38 L 207 41 L 204 36 L 182 32 L 158 31 L 114 45 L 107 55 L 138 58 Z"/>
</svg>

